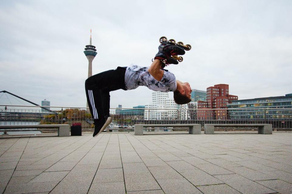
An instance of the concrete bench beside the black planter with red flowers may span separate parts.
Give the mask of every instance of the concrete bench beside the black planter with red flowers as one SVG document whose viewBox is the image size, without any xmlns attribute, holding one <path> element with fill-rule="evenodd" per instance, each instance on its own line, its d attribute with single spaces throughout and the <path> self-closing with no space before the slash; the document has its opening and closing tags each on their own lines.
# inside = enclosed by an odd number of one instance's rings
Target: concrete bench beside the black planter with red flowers
<svg viewBox="0 0 292 194">
<path fill-rule="evenodd" d="M 0 129 L 23 129 L 23 128 L 57 128 L 58 136 L 70 135 L 70 125 L 68 124 L 36 124 L 36 125 L 0 125 Z"/>
</svg>

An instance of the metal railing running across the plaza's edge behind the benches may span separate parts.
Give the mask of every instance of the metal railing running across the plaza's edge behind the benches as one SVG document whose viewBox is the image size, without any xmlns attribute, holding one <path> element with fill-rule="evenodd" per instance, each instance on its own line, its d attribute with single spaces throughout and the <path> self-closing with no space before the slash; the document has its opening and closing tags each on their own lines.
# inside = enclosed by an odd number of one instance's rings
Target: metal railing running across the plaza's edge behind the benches
<svg viewBox="0 0 292 194">
<path fill-rule="evenodd" d="M 113 122 L 108 131 L 133 131 L 134 124 L 201 124 L 202 127 L 204 124 L 272 124 L 274 129 L 292 129 L 291 108 L 110 108 L 110 115 Z M 87 107 L 0 105 L 0 122 L 0 125 L 81 123 L 83 130 L 94 128 Z"/>
</svg>

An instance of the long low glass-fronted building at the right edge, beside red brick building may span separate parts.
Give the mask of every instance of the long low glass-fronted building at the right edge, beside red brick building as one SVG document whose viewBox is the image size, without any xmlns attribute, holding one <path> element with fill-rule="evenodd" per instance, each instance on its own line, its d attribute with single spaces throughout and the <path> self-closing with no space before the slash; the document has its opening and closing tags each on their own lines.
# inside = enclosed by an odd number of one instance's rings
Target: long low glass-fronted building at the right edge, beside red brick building
<svg viewBox="0 0 292 194">
<path fill-rule="evenodd" d="M 292 118 L 292 95 L 233 100 L 227 107 L 230 119 L 287 119 Z"/>
</svg>

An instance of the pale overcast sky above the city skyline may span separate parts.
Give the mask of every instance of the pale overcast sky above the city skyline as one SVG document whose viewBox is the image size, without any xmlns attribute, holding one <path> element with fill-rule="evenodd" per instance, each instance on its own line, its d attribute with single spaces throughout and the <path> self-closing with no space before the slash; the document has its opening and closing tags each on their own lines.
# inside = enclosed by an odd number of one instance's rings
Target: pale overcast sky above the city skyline
<svg viewBox="0 0 292 194">
<path fill-rule="evenodd" d="M 0 2 L 0 91 L 36 104 L 85 107 L 92 73 L 150 66 L 166 36 L 192 45 L 166 69 L 193 89 L 229 84 L 239 100 L 292 93 L 292 1 L 46 1 Z M 147 87 L 110 93 L 110 107 L 151 103 Z M 0 93 L 0 104 L 27 104 Z"/>
</svg>

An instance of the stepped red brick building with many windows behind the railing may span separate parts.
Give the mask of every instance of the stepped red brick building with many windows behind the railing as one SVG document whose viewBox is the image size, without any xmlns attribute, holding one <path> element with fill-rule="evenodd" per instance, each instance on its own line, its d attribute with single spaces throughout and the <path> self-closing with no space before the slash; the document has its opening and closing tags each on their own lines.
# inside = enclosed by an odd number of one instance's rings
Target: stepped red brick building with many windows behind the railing
<svg viewBox="0 0 292 194">
<path fill-rule="evenodd" d="M 213 110 L 227 108 L 232 100 L 238 100 L 237 96 L 229 94 L 228 84 L 217 84 L 207 87 L 207 102 L 198 101 L 197 120 L 225 120 L 228 119 L 227 110 Z M 212 109 L 212 110 L 208 110 Z"/>
</svg>

